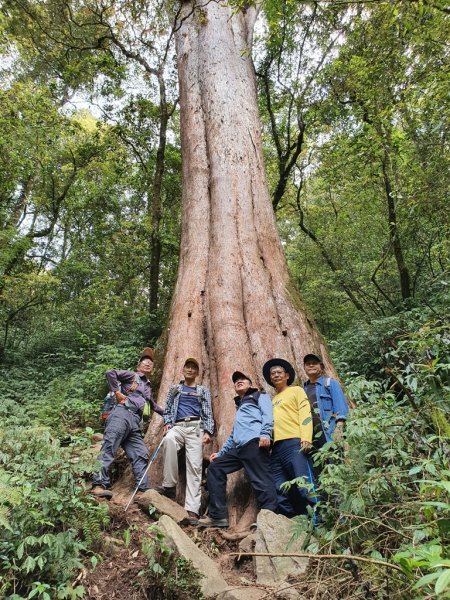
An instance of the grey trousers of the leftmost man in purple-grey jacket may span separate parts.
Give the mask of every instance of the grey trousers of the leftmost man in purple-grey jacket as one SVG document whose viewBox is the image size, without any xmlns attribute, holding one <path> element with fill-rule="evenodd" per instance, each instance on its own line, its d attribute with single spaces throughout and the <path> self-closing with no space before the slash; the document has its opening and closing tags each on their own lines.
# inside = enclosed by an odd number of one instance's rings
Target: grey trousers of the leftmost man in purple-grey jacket
<svg viewBox="0 0 450 600">
<path fill-rule="evenodd" d="M 131 412 L 125 406 L 118 404 L 109 417 L 106 419 L 105 433 L 103 436 L 102 448 L 100 450 L 99 461 L 102 465 L 101 472 L 94 477 L 94 483 L 109 487 L 111 480 L 109 478 L 109 468 L 114 460 L 119 446 L 125 451 L 128 460 L 133 469 L 133 475 L 136 485 L 141 480 L 147 468 L 149 452 L 144 440 L 142 439 L 139 427 L 140 416 Z M 140 490 L 149 488 L 147 475 L 139 486 Z"/>
</svg>

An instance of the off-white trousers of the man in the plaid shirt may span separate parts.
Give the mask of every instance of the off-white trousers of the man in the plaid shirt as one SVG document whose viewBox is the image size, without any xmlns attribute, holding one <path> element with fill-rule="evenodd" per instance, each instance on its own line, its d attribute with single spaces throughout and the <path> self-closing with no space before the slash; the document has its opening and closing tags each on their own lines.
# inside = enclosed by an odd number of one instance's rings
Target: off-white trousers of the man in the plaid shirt
<svg viewBox="0 0 450 600">
<path fill-rule="evenodd" d="M 200 421 L 177 423 L 164 438 L 164 487 L 178 483 L 178 451 L 186 451 L 186 497 L 184 508 L 199 514 L 201 502 L 203 427 Z"/>
</svg>

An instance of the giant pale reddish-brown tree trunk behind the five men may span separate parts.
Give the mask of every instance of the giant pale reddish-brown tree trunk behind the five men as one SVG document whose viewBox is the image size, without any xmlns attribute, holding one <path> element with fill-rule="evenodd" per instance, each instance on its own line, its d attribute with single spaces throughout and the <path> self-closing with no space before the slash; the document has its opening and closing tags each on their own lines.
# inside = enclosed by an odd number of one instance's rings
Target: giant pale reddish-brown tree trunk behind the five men
<svg viewBox="0 0 450 600">
<path fill-rule="evenodd" d="M 159 402 L 179 380 L 186 357 L 197 357 L 213 396 L 214 449 L 231 431 L 234 370 L 267 388 L 266 360 L 281 356 L 300 369 L 303 355 L 315 351 L 332 372 L 290 282 L 267 188 L 249 56 L 255 16 L 253 9 L 232 15 L 216 2 L 201 11 L 185 3 L 176 32 L 182 239 Z M 159 427 L 155 419 L 147 434 L 153 447 Z M 157 472 L 152 475 L 156 482 Z M 238 481 L 229 484 L 233 521 L 244 508 Z"/>
</svg>

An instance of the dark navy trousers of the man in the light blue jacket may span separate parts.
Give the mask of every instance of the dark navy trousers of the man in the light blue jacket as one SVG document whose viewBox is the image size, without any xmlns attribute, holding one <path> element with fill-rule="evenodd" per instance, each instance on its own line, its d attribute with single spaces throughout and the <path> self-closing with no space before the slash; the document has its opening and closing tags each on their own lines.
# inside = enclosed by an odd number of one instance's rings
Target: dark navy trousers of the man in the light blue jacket
<svg viewBox="0 0 450 600">
<path fill-rule="evenodd" d="M 258 508 L 275 511 L 277 493 L 270 471 L 269 448 L 260 448 L 259 438 L 255 438 L 241 448 L 233 448 L 209 465 L 209 516 L 212 519 L 227 518 L 227 475 L 242 468 L 255 492 Z"/>
</svg>

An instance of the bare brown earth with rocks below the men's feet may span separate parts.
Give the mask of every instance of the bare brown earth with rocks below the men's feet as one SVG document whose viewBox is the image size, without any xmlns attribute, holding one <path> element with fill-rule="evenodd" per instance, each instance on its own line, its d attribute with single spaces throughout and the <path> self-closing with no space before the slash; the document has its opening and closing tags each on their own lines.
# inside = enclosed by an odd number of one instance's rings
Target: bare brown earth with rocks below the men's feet
<svg viewBox="0 0 450 600">
<path fill-rule="evenodd" d="M 188 525 L 184 509 L 153 490 L 143 494 L 126 512 L 125 504 L 125 498 L 120 496 L 109 502 L 111 523 L 98 548 L 103 560 L 92 572 L 83 571 L 78 576 L 78 583 L 86 590 L 86 598 L 197 598 L 198 594 L 194 596 L 187 588 L 175 594 L 165 587 L 164 578 L 167 575 L 162 573 L 156 573 L 153 583 L 149 583 L 149 560 L 143 544 L 153 543 L 155 539 L 156 556 L 162 556 L 161 551 L 164 554 L 165 548 L 170 547 L 168 554 L 175 550 L 193 563 L 202 574 L 200 585 L 205 598 L 268 600 L 304 597 L 305 590 L 299 591 L 299 588 L 306 584 L 306 559 L 245 557 L 235 554 L 253 551 L 286 552 L 292 537 L 292 523 L 284 517 L 261 511 L 257 527 L 233 535 L 229 530 L 199 529 Z M 162 546 L 158 538 L 155 538 L 155 529 L 152 528 L 155 525 L 164 534 L 160 534 L 164 540 Z M 301 540 L 291 544 L 288 551 L 300 552 Z"/>
</svg>

